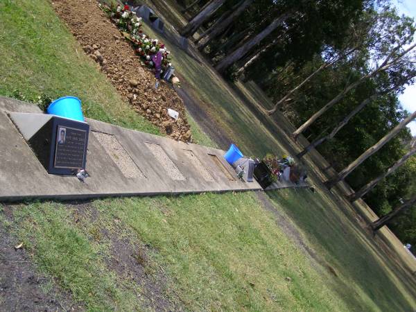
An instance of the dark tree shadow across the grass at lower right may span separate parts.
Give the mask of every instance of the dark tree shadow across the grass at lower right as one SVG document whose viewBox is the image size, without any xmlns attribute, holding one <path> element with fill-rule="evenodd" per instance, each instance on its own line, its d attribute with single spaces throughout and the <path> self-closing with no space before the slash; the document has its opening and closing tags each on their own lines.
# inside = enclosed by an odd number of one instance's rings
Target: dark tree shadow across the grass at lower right
<svg viewBox="0 0 416 312">
<path fill-rule="evenodd" d="M 383 311 L 410 311 L 412 303 L 392 279 L 397 267 L 365 237 L 362 229 L 331 207 L 329 198 L 307 190 L 268 192 L 272 202 L 283 209 L 331 267 L 340 272 L 331 286 L 352 309 L 371 309 L 370 302 Z M 283 196 L 282 196 L 283 195 Z M 315 205 L 310 205 L 315 202 Z M 331 205 L 332 204 L 332 205 Z M 354 287 L 354 284 L 356 286 Z M 362 292 L 360 296 L 358 291 Z"/>
</svg>

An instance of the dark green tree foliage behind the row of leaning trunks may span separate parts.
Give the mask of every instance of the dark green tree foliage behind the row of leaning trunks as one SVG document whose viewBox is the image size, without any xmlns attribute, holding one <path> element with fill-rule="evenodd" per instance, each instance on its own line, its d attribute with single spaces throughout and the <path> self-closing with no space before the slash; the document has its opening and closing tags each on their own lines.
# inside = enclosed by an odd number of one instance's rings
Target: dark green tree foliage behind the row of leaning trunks
<svg viewBox="0 0 416 312">
<path fill-rule="evenodd" d="M 225 20 L 227 27 L 219 27 Z M 327 136 L 317 148 L 339 172 L 408 116 L 398 96 L 415 82 L 415 29 L 415 21 L 399 15 L 389 0 L 227 0 L 194 38 L 225 76 L 263 88 L 295 127 L 330 103 L 302 132 L 310 142 Z M 358 190 L 382 175 L 408 153 L 412 139 L 407 128 L 401 130 L 346 182 Z M 410 157 L 365 194 L 379 216 L 415 193 L 415 162 Z M 416 245 L 415 211 L 391 226 Z"/>
</svg>

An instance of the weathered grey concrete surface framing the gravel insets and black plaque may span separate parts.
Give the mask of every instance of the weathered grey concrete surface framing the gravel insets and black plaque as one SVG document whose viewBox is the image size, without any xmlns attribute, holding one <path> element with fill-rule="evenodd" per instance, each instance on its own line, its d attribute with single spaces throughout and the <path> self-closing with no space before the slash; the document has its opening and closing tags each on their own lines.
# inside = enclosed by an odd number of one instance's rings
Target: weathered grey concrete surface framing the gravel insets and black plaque
<svg viewBox="0 0 416 312">
<path fill-rule="evenodd" d="M 0 200 L 2 201 L 24 198 L 82 199 L 261 189 L 255 181 L 243 182 L 236 177 L 232 166 L 223 159 L 225 154 L 223 150 L 185 144 L 92 119 L 87 119 L 90 125 L 87 151 L 87 171 L 90 177 L 87 178 L 86 183 L 72 176 L 49 175 L 10 120 L 8 116 L 10 112 L 41 113 L 35 105 L 0 97 Z M 115 135 L 146 177 L 125 177 L 92 131 Z M 148 148 L 148 144 L 159 144 L 183 175 L 184 180 L 172 180 Z M 191 162 L 189 155 L 186 155 L 189 150 L 211 173 L 213 180 L 206 179 L 201 174 L 196 168 L 198 162 Z M 213 159 L 214 157 L 216 159 Z"/>
</svg>

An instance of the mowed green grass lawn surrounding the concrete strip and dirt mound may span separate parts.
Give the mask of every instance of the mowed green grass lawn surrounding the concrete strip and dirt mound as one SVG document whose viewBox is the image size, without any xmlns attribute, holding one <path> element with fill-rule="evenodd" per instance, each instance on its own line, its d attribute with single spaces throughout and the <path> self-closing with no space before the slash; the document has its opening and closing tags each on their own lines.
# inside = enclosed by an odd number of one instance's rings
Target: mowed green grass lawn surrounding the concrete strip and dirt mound
<svg viewBox="0 0 416 312">
<path fill-rule="evenodd" d="M 177 71 L 246 154 L 286 152 L 284 136 L 266 130 L 209 67 L 168 48 Z M 121 100 L 47 0 L 0 3 L 0 67 L 1 95 L 71 94 L 91 118 L 158 133 Z M 198 141 L 213 144 L 191 125 Z M 253 192 L 0 204 L 0 224 L 88 311 L 155 308 L 146 284 L 114 266 L 125 246 L 146 279 L 162 279 L 159 295 L 177 309 L 415 309 L 414 290 L 322 189 L 276 191 L 270 200 L 272 210 Z M 315 258 L 282 231 L 276 212 L 293 220 Z"/>
</svg>

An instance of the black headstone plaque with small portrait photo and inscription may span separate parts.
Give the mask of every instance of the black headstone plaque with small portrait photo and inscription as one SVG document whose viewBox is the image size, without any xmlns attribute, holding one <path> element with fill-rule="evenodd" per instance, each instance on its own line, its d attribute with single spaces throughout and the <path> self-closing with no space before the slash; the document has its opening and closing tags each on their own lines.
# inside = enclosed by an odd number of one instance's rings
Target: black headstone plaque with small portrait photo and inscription
<svg viewBox="0 0 416 312">
<path fill-rule="evenodd" d="M 29 144 L 48 173 L 73 175 L 85 169 L 88 134 L 88 123 L 53 116 Z"/>
</svg>

